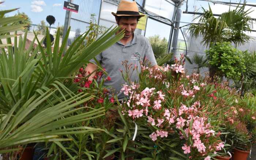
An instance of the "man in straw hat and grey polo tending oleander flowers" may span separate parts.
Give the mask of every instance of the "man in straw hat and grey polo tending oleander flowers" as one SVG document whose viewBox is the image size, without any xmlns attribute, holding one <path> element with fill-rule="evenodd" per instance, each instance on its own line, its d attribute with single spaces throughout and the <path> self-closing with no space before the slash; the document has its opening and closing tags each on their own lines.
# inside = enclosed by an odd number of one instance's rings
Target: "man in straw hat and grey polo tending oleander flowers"
<svg viewBox="0 0 256 160">
<path fill-rule="evenodd" d="M 121 26 L 118 33 L 124 29 L 125 35 L 120 41 L 96 56 L 96 59 L 101 63 L 102 67 L 106 69 L 106 72 L 111 78 L 111 80 L 106 81 L 104 85 L 113 87 L 118 100 L 121 100 L 124 98 L 124 94 L 120 93 L 120 89 L 122 85 L 125 84 L 120 72 L 120 70 L 125 69 L 121 64 L 122 61 L 128 60 L 128 63 L 132 64 L 133 67 L 135 65 L 138 66 L 139 72 L 140 61 L 147 59 L 151 67 L 158 67 L 158 65 L 148 39 L 134 33 L 139 19 L 144 16 L 139 14 L 136 2 L 122 0 L 118 5 L 117 12 L 112 12 L 112 14 L 115 16 L 118 26 Z M 97 69 L 95 65 L 96 62 L 94 60 L 90 62 L 92 63 L 89 63 L 86 67 L 86 76 L 88 75 L 88 71 L 92 73 Z M 94 75 L 91 75 L 89 79 L 92 79 Z M 131 81 L 138 81 L 136 71 L 131 74 Z"/>
</svg>

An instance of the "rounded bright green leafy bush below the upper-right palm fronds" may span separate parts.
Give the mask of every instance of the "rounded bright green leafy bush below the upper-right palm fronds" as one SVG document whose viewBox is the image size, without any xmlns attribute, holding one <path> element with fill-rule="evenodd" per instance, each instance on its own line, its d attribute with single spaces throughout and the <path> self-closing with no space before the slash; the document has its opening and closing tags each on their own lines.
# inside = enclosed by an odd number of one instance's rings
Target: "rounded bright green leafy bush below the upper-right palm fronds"
<svg viewBox="0 0 256 160">
<path fill-rule="evenodd" d="M 244 52 L 234 48 L 229 42 L 217 42 L 206 50 L 206 56 L 218 76 L 238 80 L 245 72 Z"/>
</svg>

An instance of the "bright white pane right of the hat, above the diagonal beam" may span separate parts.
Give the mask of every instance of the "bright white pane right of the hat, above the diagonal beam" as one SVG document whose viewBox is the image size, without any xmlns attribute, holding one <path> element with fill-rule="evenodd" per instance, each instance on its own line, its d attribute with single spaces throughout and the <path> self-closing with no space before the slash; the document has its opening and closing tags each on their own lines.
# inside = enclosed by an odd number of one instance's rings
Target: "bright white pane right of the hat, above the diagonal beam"
<svg viewBox="0 0 256 160">
<path fill-rule="evenodd" d="M 145 8 L 168 19 L 173 17 L 174 5 L 166 0 L 147 0 Z"/>
</svg>

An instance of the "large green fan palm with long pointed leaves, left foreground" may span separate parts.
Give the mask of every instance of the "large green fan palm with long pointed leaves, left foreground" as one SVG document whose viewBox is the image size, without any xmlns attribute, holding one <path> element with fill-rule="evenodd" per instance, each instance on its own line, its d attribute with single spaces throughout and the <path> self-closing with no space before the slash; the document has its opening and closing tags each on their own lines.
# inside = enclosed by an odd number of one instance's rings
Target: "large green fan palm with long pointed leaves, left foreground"
<svg viewBox="0 0 256 160">
<path fill-rule="evenodd" d="M 58 141 L 70 139 L 59 138 L 60 135 L 103 131 L 71 127 L 74 123 L 100 117 L 105 111 L 99 108 L 87 113 L 76 112 L 84 108 L 80 104 L 94 98 L 94 95 L 85 91 L 77 94 L 78 88 L 72 84 L 71 75 L 120 40 L 123 32 L 112 37 L 120 28 L 109 29 L 90 46 L 77 52 L 90 30 L 80 35 L 66 50 L 70 28 L 61 46 L 59 29 L 53 50 L 50 45 L 43 48 L 41 43 L 44 39 L 40 42 L 36 35 L 26 50 L 27 32 L 24 38 L 19 37 L 19 45 L 17 34 L 10 34 L 24 29 L 26 24 L 12 25 L 24 18 L 19 15 L 4 18 L 4 14 L 15 10 L 0 11 L 0 153 L 18 151 L 17 146 L 31 142 L 53 141 L 61 147 Z M 14 42 L 11 37 L 14 37 Z M 7 39 L 5 45 L 1 41 L 4 38 Z M 33 49 L 35 41 L 38 46 Z M 50 44 L 48 28 L 46 42 Z"/>
</svg>

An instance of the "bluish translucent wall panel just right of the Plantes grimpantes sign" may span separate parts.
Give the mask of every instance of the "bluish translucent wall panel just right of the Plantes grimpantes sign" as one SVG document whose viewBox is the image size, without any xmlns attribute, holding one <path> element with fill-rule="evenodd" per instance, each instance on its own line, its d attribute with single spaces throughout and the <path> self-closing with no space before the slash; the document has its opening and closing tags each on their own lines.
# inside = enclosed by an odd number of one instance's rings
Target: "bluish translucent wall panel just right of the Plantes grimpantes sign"
<svg viewBox="0 0 256 160">
<path fill-rule="evenodd" d="M 73 0 L 72 3 L 79 5 L 79 9 L 78 13 L 71 13 L 71 18 L 89 23 L 91 14 L 95 14 L 98 23 L 101 0 Z"/>
</svg>

